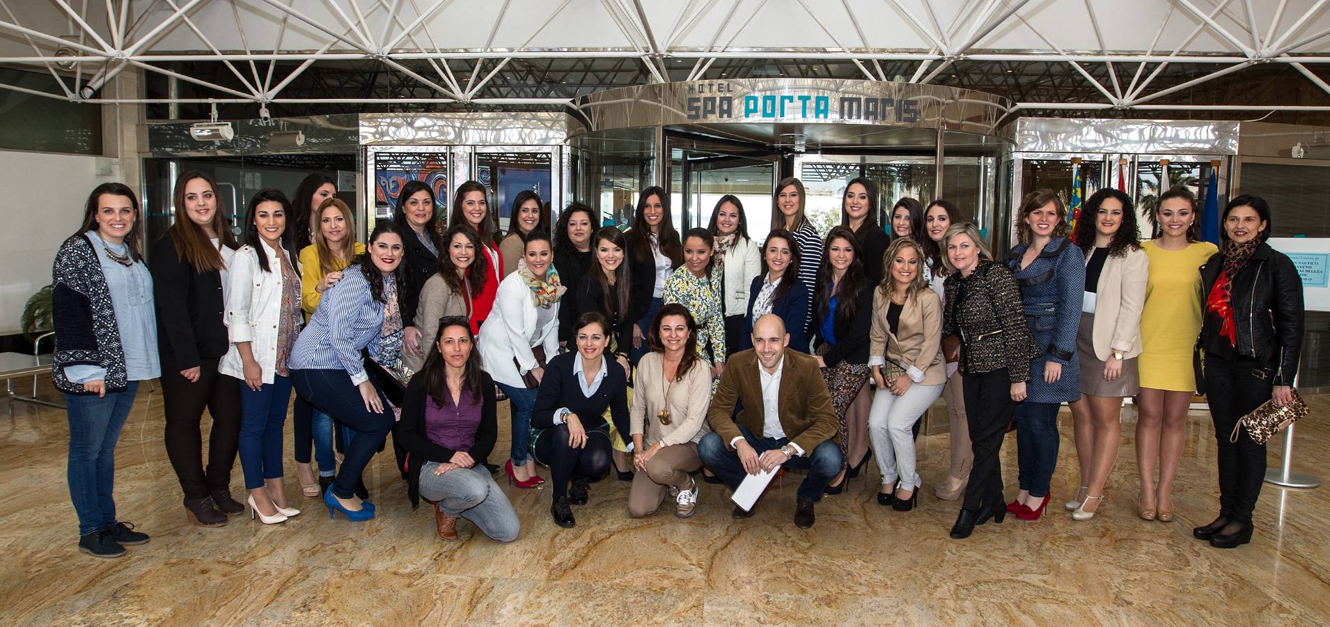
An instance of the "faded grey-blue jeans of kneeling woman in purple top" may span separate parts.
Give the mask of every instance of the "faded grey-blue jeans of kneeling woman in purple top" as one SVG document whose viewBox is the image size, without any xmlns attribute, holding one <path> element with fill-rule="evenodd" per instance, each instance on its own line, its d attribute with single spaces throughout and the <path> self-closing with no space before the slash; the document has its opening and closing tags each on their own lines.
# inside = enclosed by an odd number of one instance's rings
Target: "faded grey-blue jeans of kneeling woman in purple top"
<svg viewBox="0 0 1330 627">
<path fill-rule="evenodd" d="M 479 462 L 469 469 L 454 469 L 434 474 L 439 462 L 420 466 L 420 495 L 439 502 L 439 511 L 462 517 L 480 527 L 480 531 L 499 542 L 517 539 L 521 523 L 517 513 L 493 477 Z"/>
</svg>

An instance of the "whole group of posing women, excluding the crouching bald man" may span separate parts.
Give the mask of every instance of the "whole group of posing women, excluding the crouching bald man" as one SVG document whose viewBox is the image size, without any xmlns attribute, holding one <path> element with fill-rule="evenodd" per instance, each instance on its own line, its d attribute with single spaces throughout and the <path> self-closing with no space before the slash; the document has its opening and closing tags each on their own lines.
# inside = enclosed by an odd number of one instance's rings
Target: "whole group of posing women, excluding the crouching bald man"
<svg viewBox="0 0 1330 627">
<path fill-rule="evenodd" d="M 826 494 L 867 461 L 850 458 L 855 442 L 871 442 L 878 502 L 914 509 L 919 418 L 944 397 L 951 467 L 934 494 L 963 497 L 951 535 L 1007 513 L 1037 519 L 1052 499 L 1057 411 L 1069 402 L 1081 489 L 1065 507 L 1085 521 L 1117 458 L 1121 399 L 1136 397 L 1140 515 L 1169 522 L 1182 419 L 1204 386 L 1222 507 L 1196 535 L 1214 546 L 1250 539 L 1264 446 L 1229 435 L 1262 402 L 1291 398 L 1302 333 L 1301 284 L 1264 244 L 1261 198 L 1229 202 L 1217 250 L 1197 241 L 1185 189 L 1160 197 L 1144 245 L 1121 192 L 1095 193 L 1071 233 L 1061 201 L 1039 190 L 1017 214 L 1020 244 L 999 261 L 946 200 L 900 198 L 884 229 L 867 178 L 846 186 L 841 225 L 826 237 L 805 216 L 803 185 L 779 181 L 761 244 L 734 196 L 682 234 L 661 188 L 642 190 L 626 233 L 597 228 L 573 202 L 551 234 L 549 205 L 523 192 L 500 236 L 481 184 L 455 190 L 446 226 L 436 190 L 412 181 L 364 246 L 335 194 L 319 174 L 294 200 L 259 192 L 237 242 L 215 182 L 185 173 L 150 270 L 134 194 L 105 184 L 89 196 L 53 270 L 55 382 L 69 407 L 82 551 L 116 556 L 148 542 L 116 518 L 112 459 L 137 383 L 158 377 L 168 454 L 196 524 L 245 511 L 229 490 L 237 454 L 251 518 L 299 514 L 282 489 L 293 390 L 297 475 L 330 515 L 374 518 L 362 473 L 392 433 L 408 497 L 434 503 L 442 538 L 458 538 L 459 518 L 516 538 L 488 463 L 505 397 L 504 473 L 523 489 L 549 483 L 557 524 L 576 524 L 572 507 L 588 503 L 610 465 L 632 482 L 630 515 L 670 495 L 676 515 L 689 517 L 700 481 L 718 483 L 697 454 L 714 382 L 769 313 L 783 318 L 791 349 L 817 357 L 841 421 L 833 439 L 846 463 Z M 861 395 L 867 419 L 849 419 Z M 999 451 L 1012 422 L 1020 486 L 1005 503 Z"/>
</svg>

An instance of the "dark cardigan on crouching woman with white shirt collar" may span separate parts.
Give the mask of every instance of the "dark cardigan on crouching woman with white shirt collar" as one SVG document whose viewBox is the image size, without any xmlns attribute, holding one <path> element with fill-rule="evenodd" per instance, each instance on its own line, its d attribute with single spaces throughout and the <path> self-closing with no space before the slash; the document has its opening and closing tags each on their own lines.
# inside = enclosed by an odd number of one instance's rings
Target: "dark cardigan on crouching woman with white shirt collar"
<svg viewBox="0 0 1330 627">
<path fill-rule="evenodd" d="M 573 359 L 580 353 L 564 353 L 549 359 L 545 366 L 545 375 L 540 379 L 540 391 L 536 393 L 536 406 L 531 414 L 531 426 L 537 429 L 553 429 L 555 410 L 568 407 L 577 414 L 583 427 L 587 430 L 605 429 L 605 410 L 609 409 L 614 429 L 618 433 L 632 433 L 628 422 L 628 375 L 624 369 L 604 357 L 600 367 L 608 369 L 605 379 L 600 382 L 596 393 L 587 398 L 581 393 L 577 382 L 577 373 L 573 371 Z"/>
</svg>

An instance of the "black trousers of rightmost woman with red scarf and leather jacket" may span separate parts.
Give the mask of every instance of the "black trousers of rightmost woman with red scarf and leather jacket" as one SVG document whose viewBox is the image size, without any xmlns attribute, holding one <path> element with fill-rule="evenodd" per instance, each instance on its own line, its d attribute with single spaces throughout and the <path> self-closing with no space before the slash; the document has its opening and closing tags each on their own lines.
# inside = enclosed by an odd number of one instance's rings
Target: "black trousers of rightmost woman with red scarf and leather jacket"
<svg viewBox="0 0 1330 627">
<path fill-rule="evenodd" d="M 1265 445 L 1252 441 L 1246 429 L 1230 442 L 1233 427 L 1244 415 L 1270 399 L 1273 371 L 1254 361 L 1228 361 L 1205 354 L 1205 399 L 1214 419 L 1216 455 L 1220 466 L 1220 515 L 1250 523 L 1265 483 Z"/>
</svg>

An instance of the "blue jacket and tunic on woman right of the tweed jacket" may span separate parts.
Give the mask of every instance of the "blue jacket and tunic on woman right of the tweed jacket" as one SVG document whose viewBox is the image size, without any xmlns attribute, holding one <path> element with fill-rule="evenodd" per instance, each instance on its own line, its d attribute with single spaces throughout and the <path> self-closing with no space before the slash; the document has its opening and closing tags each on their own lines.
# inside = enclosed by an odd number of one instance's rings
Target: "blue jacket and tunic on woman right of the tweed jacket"
<svg viewBox="0 0 1330 627">
<path fill-rule="evenodd" d="M 1021 244 L 1007 253 L 1007 268 L 1020 284 L 1029 334 L 1044 351 L 1029 363 L 1029 383 L 1025 387 L 1029 395 L 1025 401 L 1076 401 L 1080 398 L 1076 331 L 1085 290 L 1085 254 L 1065 237 L 1055 237 L 1035 261 L 1021 269 L 1020 258 L 1028 248 L 1028 244 Z M 1044 363 L 1049 361 L 1063 365 L 1063 375 L 1053 385 L 1044 382 Z"/>
</svg>

